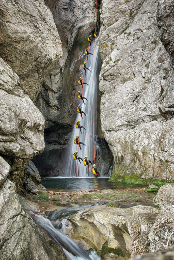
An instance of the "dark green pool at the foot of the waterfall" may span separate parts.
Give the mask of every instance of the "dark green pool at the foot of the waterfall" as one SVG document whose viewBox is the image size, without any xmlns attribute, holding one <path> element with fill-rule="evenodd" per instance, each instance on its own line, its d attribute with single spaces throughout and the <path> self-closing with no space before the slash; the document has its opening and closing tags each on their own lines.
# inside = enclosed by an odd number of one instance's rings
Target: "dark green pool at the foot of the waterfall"
<svg viewBox="0 0 174 260">
<path fill-rule="evenodd" d="M 42 185 L 46 189 L 57 191 L 102 190 L 102 189 L 132 189 L 143 185 L 129 183 L 108 182 L 109 178 L 42 178 Z"/>
</svg>

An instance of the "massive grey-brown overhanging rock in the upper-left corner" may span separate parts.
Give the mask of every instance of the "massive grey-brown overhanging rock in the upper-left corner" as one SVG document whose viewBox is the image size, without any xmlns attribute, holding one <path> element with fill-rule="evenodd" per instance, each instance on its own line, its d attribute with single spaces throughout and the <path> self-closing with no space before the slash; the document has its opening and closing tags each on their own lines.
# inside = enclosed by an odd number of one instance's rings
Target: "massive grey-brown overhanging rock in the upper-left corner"
<svg viewBox="0 0 174 260">
<path fill-rule="evenodd" d="M 53 16 L 43 0 L 2 0 L 0 56 L 20 77 L 21 88 L 34 100 L 44 78 L 62 56 Z"/>
</svg>

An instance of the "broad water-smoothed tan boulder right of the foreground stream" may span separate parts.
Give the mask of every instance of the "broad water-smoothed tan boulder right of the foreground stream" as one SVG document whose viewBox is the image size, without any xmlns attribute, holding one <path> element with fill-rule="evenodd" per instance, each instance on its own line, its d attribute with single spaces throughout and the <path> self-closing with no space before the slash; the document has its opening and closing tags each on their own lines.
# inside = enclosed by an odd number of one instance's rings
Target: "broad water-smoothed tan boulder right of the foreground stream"
<svg viewBox="0 0 174 260">
<path fill-rule="evenodd" d="M 108 247 L 120 247 L 130 257 L 131 251 L 132 256 L 149 252 L 148 234 L 158 213 L 150 206 L 95 206 L 80 210 L 71 221 L 75 237 L 86 238 L 99 250 L 107 242 Z"/>
</svg>

